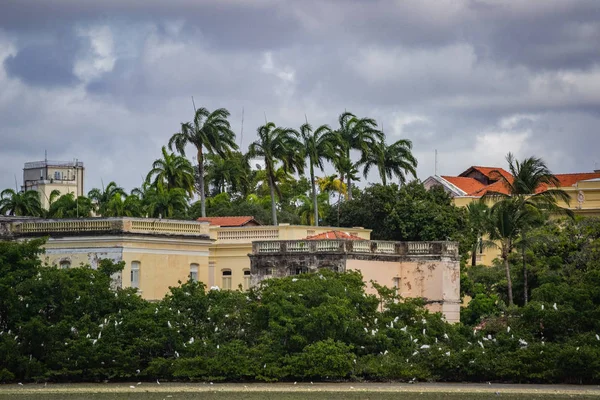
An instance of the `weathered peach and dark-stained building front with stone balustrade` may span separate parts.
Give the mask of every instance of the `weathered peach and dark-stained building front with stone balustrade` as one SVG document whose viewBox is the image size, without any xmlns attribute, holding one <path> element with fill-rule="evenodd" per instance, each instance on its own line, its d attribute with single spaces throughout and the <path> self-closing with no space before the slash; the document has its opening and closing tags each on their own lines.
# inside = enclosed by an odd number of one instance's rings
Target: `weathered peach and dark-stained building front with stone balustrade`
<svg viewBox="0 0 600 400">
<path fill-rule="evenodd" d="M 360 271 L 367 292 L 371 281 L 407 298 L 423 298 L 431 312 L 460 320 L 460 263 L 455 242 L 386 242 L 344 239 L 268 240 L 254 242 L 252 284 L 320 269 Z"/>
</svg>

